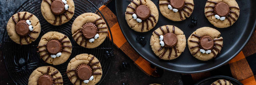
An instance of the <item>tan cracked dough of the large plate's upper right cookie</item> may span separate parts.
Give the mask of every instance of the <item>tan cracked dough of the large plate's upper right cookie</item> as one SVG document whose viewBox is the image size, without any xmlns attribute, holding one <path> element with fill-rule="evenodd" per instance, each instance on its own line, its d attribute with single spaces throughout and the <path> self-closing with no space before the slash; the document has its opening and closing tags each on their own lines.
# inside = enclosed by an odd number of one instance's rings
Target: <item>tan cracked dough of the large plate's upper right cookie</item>
<svg viewBox="0 0 256 85">
<path fill-rule="evenodd" d="M 219 3 L 219 2 L 224 2 L 224 3 L 226 3 L 228 6 L 236 6 L 236 7 L 239 8 L 238 4 L 236 3 L 236 0 L 208 0 L 208 1 L 214 1 L 214 2 L 217 2 L 217 3 Z M 205 6 L 215 6 L 215 3 L 206 3 Z M 212 10 L 212 9 L 213 9 L 213 8 L 211 8 L 211 7 L 204 8 L 204 12 L 210 11 L 210 10 Z M 236 9 L 236 8 L 230 8 L 230 10 L 231 10 L 231 11 L 234 11 L 234 12 L 238 15 L 238 17 L 239 17 L 240 10 L 238 10 L 238 9 Z M 209 14 L 212 14 L 212 12 L 206 13 L 205 16 L 207 16 L 207 15 L 209 15 Z M 238 17 L 236 17 L 236 14 L 234 14 L 234 13 L 230 13 L 230 14 L 234 17 L 235 20 L 238 19 Z M 227 18 L 226 18 L 225 20 L 223 20 L 223 21 L 215 19 L 215 15 L 211 15 L 211 16 L 206 17 L 206 18 L 209 20 L 209 22 L 210 22 L 213 26 L 215 26 L 215 27 L 217 27 L 217 28 L 227 28 L 227 27 L 229 27 L 229 26 L 232 26 L 232 25 L 236 22 L 236 21 L 232 20 L 231 17 L 230 17 L 230 19 L 231 19 L 231 25 L 230 25 L 230 22 L 229 22 L 229 20 L 228 20 Z"/>
</svg>

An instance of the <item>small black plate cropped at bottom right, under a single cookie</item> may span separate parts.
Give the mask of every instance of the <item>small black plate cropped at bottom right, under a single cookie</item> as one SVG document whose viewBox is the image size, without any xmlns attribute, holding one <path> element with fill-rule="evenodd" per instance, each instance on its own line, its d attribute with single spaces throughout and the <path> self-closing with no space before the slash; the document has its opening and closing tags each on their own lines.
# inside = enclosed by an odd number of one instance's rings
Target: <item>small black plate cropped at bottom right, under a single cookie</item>
<svg viewBox="0 0 256 85">
<path fill-rule="evenodd" d="M 234 78 L 231 78 L 231 77 L 227 77 L 227 76 L 213 76 L 213 77 L 209 77 L 207 79 L 201 80 L 200 82 L 196 83 L 195 85 L 211 85 L 213 82 L 217 81 L 218 79 L 230 80 L 230 82 L 233 85 L 243 85 L 238 80 L 236 80 Z"/>
</svg>

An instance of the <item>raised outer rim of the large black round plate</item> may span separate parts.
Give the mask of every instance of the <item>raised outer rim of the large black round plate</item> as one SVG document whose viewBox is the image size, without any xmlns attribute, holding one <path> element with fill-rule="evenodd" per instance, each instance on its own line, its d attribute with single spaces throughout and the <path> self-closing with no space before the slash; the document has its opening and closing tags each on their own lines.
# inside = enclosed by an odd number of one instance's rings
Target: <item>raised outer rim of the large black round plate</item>
<svg viewBox="0 0 256 85">
<path fill-rule="evenodd" d="M 117 0 L 115 0 L 115 3 L 116 3 Z M 125 32 L 123 31 L 123 29 L 121 28 L 121 25 L 120 25 L 120 21 L 119 21 L 119 15 L 117 14 L 118 11 L 117 11 L 117 4 L 115 4 L 115 7 L 116 7 L 116 17 L 117 17 L 117 20 L 118 20 L 118 23 L 119 23 L 119 27 L 122 31 L 122 34 L 125 36 L 125 39 L 128 41 L 128 43 L 131 45 L 131 47 L 141 56 L 143 57 L 143 59 L 147 60 L 148 62 L 150 62 L 151 64 L 159 67 L 159 68 L 162 68 L 162 69 L 165 69 L 167 71 L 172 71 L 172 72 L 175 72 L 175 73 L 180 73 L 180 74 L 195 74 L 195 73 L 202 73 L 202 72 L 206 72 L 206 71 L 211 71 L 213 69 L 216 69 L 218 67 L 221 67 L 222 65 L 224 65 L 225 63 L 229 62 L 231 59 L 233 59 L 234 57 L 236 57 L 236 55 L 238 55 L 240 53 L 240 51 L 244 48 L 244 46 L 248 43 L 248 41 L 250 40 L 250 37 L 252 36 L 253 34 L 253 31 L 254 31 L 254 28 L 256 27 L 256 20 L 254 20 L 254 24 L 253 25 L 250 25 L 250 26 L 247 26 L 247 30 L 251 30 L 248 38 L 246 39 L 246 41 L 244 42 L 244 44 L 241 46 L 241 48 L 232 56 L 230 57 L 229 59 L 227 59 L 225 62 L 222 62 L 221 64 L 219 65 L 216 65 L 215 67 L 212 67 L 212 68 L 208 68 L 208 69 L 205 69 L 205 70 L 201 70 L 201 71 L 176 71 L 176 70 L 172 70 L 172 69 L 168 69 L 168 68 L 164 68 L 160 65 L 157 65 L 155 64 L 154 62 L 151 62 L 149 59 L 147 59 L 146 57 L 144 57 L 137 49 L 135 49 L 134 45 L 131 44 L 130 40 L 128 40 L 128 37 L 126 37 L 126 34 Z M 253 9 L 251 9 L 253 11 Z M 253 27 L 252 27 L 253 26 Z M 240 37 L 241 38 L 241 37 Z"/>
</svg>

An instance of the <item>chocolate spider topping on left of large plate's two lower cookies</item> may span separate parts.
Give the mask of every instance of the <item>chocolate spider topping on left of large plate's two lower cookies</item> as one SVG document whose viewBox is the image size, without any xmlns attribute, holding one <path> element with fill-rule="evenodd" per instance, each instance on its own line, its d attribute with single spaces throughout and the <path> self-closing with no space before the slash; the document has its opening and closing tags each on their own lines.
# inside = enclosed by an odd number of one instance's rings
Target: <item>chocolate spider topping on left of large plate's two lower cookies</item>
<svg viewBox="0 0 256 85">
<path fill-rule="evenodd" d="M 175 26 L 173 26 L 173 28 L 172 28 L 173 33 L 170 33 L 168 26 L 166 26 L 166 29 L 167 29 L 168 33 L 164 32 L 163 28 L 160 27 L 160 29 L 162 30 L 164 35 L 160 35 L 156 31 L 154 31 L 154 33 L 159 36 L 159 40 L 160 40 L 161 48 L 158 51 L 161 51 L 163 48 L 165 48 L 165 50 L 163 51 L 163 54 L 160 56 L 160 58 L 162 58 L 163 55 L 166 53 L 166 51 L 168 49 L 170 49 L 169 56 L 168 56 L 168 58 L 170 59 L 171 54 L 172 54 L 172 48 L 174 48 L 175 57 L 177 57 L 178 55 L 177 55 L 176 44 L 177 44 L 178 40 L 177 40 L 177 37 L 175 35 Z"/>
</svg>

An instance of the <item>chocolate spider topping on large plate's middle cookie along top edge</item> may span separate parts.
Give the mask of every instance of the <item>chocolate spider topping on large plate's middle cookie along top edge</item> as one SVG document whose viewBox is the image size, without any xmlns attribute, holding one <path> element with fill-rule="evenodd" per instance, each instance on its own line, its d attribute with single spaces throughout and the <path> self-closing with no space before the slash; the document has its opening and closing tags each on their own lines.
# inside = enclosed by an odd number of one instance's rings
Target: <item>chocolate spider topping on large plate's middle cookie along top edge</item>
<svg viewBox="0 0 256 85">
<path fill-rule="evenodd" d="M 159 6 L 166 4 L 166 5 L 168 5 L 168 9 L 172 10 L 173 12 L 179 11 L 181 20 L 183 20 L 181 11 L 185 11 L 188 15 L 190 15 L 190 13 L 188 11 L 186 11 L 185 8 L 188 8 L 189 11 L 193 11 L 192 8 L 190 8 L 189 6 L 186 5 L 186 4 L 189 4 L 191 6 L 194 6 L 194 4 L 192 4 L 192 3 L 185 2 L 184 0 L 167 0 L 167 1 L 169 1 L 169 3 L 160 3 Z"/>
</svg>

